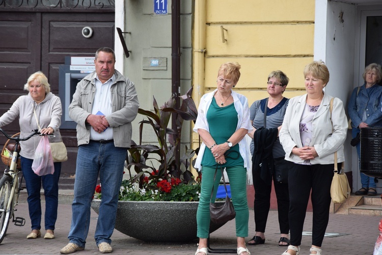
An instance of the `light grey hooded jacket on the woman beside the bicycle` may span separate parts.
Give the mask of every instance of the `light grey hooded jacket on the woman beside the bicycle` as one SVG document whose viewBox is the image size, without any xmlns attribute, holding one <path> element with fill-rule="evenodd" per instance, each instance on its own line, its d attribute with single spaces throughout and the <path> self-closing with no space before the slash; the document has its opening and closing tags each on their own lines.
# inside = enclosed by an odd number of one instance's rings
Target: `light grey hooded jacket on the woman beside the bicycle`
<svg viewBox="0 0 382 255">
<path fill-rule="evenodd" d="M 20 96 L 12 104 L 11 108 L 0 117 L 0 127 L 3 127 L 12 121 L 19 118 L 20 137 L 29 136 L 32 130 L 39 129 L 36 118 L 33 114 L 33 109 L 36 110 L 36 115 L 41 128 L 51 127 L 54 130 L 55 137 L 48 136 L 49 142 L 61 141 L 60 125 L 62 115 L 61 100 L 58 96 L 51 92 L 45 95 L 45 99 L 37 104 L 33 100 L 31 94 Z M 20 155 L 24 158 L 33 159 L 37 145 L 41 136 L 33 136 L 29 140 L 21 141 Z M 12 142 L 11 142 L 12 143 Z"/>
</svg>

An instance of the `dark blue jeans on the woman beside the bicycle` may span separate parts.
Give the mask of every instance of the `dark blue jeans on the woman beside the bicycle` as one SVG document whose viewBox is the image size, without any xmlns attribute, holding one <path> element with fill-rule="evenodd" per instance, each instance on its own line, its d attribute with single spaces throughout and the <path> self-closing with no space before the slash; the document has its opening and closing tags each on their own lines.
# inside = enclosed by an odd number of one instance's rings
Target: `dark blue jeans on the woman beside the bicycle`
<svg viewBox="0 0 382 255">
<path fill-rule="evenodd" d="M 61 174 L 61 162 L 54 163 L 52 175 L 38 176 L 32 170 L 33 159 L 21 158 L 22 175 L 28 192 L 29 217 L 31 218 L 32 230 L 41 229 L 41 183 L 45 196 L 45 230 L 54 231 L 57 220 L 57 208 L 59 205 L 59 178 Z"/>
</svg>

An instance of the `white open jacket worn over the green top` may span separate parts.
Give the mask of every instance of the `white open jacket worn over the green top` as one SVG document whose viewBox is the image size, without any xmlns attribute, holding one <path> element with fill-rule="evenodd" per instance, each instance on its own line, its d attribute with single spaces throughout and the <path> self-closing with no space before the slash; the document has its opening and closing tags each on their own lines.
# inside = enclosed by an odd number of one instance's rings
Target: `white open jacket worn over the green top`
<svg viewBox="0 0 382 255">
<path fill-rule="evenodd" d="M 193 129 L 195 132 L 198 132 L 199 128 L 205 129 L 209 132 L 206 115 L 207 115 L 207 110 L 212 103 L 213 95 L 215 94 L 216 91 L 217 89 L 211 93 L 207 93 L 203 95 L 202 98 L 200 99 L 200 104 L 198 109 L 198 118 L 196 119 L 195 126 Z M 252 130 L 253 127 L 250 122 L 250 109 L 248 106 L 247 98 L 234 91 L 232 91 L 232 97 L 233 97 L 233 103 L 234 103 L 235 109 L 237 111 L 236 130 L 240 128 L 245 128 L 245 129 L 248 129 L 249 131 Z M 222 120 L 222 126 L 224 126 L 224 121 L 225 120 Z M 250 159 L 249 159 L 248 151 L 246 148 L 247 146 L 246 146 L 245 138 L 243 138 L 239 141 L 239 152 L 241 157 L 244 160 L 244 167 L 248 169 L 250 165 Z M 206 149 L 206 145 L 202 143 L 202 145 L 200 146 L 198 157 L 196 158 L 196 161 L 195 161 L 196 168 L 200 168 L 201 166 L 205 149 Z"/>
</svg>

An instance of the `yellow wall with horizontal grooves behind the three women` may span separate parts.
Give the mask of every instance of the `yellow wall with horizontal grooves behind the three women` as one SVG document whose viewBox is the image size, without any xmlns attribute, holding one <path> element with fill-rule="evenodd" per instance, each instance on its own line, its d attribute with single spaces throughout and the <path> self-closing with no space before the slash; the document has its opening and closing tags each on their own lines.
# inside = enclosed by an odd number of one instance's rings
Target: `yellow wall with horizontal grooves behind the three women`
<svg viewBox="0 0 382 255">
<path fill-rule="evenodd" d="M 290 79 L 284 96 L 305 93 L 303 70 L 313 61 L 314 3 L 314 0 L 196 0 L 196 17 L 198 10 L 205 8 L 205 17 L 195 19 L 194 26 L 194 39 L 198 38 L 194 46 L 205 49 L 204 62 L 194 62 L 193 67 L 193 77 L 198 77 L 193 81 L 197 85 L 193 95 L 197 105 L 203 94 L 216 88 L 217 70 L 227 61 L 241 65 L 235 91 L 247 96 L 250 105 L 267 97 L 266 81 L 273 70 L 282 70 Z M 225 43 L 221 26 L 225 29 Z M 197 134 L 193 141 L 198 142 Z"/>
</svg>

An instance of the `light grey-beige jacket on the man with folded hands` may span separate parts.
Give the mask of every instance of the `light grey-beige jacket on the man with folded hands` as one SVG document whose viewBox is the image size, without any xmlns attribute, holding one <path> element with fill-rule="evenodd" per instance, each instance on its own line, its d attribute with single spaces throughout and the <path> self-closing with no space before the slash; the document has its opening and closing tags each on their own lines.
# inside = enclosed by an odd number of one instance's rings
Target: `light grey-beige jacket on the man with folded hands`
<svg viewBox="0 0 382 255">
<path fill-rule="evenodd" d="M 115 70 L 116 79 L 110 87 L 112 114 L 106 120 L 113 128 L 115 147 L 130 148 L 131 122 L 137 117 L 139 102 L 134 83 Z M 73 100 L 69 105 L 69 117 L 77 123 L 78 146 L 89 144 L 90 124 L 86 119 L 92 112 L 96 92 L 96 72 L 92 72 L 78 82 Z"/>
</svg>

